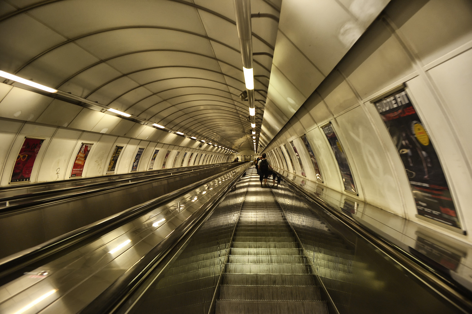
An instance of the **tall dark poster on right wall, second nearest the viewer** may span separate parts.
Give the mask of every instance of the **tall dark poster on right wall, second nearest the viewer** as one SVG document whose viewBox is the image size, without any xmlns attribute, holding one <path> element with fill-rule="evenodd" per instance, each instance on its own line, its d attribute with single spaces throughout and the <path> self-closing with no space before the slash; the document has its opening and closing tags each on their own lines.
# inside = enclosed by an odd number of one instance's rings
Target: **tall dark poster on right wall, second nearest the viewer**
<svg viewBox="0 0 472 314">
<path fill-rule="evenodd" d="M 346 191 L 357 193 L 354 185 L 354 178 L 347 162 L 346 154 L 343 151 L 343 147 L 337 139 L 336 133 L 334 132 L 333 125 L 329 122 L 327 125 L 322 127 L 324 134 L 328 138 L 329 145 L 333 150 L 334 157 L 336 158 L 339 171 L 341 171 L 341 178 L 343 178 L 344 188 Z"/>
</svg>

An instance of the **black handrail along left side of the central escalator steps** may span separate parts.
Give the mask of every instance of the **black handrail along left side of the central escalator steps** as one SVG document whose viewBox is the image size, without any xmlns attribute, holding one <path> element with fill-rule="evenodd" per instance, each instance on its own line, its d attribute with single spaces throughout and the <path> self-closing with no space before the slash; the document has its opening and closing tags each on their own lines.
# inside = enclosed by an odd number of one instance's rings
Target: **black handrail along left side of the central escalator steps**
<svg viewBox="0 0 472 314">
<path fill-rule="evenodd" d="M 180 224 L 169 236 L 164 238 L 158 245 L 154 246 L 137 263 L 118 277 L 110 287 L 105 289 L 89 305 L 85 306 L 80 314 L 113 313 L 122 305 L 126 299 L 140 286 L 141 283 L 152 273 L 166 255 L 185 238 L 185 235 L 194 231 L 208 217 L 211 211 L 218 205 L 219 201 L 229 192 L 234 183 L 243 176 L 245 170 L 253 163 L 248 162 L 240 173 L 228 184 L 228 188 L 219 191 L 218 195 L 208 201 L 205 206 L 194 212 L 188 219 Z"/>
</svg>

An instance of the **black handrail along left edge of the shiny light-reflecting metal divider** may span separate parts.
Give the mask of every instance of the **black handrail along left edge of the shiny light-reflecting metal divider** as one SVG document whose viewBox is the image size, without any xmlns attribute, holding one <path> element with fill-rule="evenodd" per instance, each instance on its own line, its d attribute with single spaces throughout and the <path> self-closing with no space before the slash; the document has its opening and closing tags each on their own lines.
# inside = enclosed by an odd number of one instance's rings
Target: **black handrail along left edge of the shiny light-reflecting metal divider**
<svg viewBox="0 0 472 314">
<path fill-rule="evenodd" d="M 136 205 L 122 212 L 118 212 L 105 219 L 68 232 L 62 236 L 53 238 L 38 246 L 34 246 L 16 254 L 7 256 L 6 258 L 0 260 L 0 278 L 3 278 L 8 274 L 25 268 L 26 266 L 36 263 L 39 260 L 47 258 L 53 254 L 57 254 L 59 251 L 65 250 L 66 248 L 73 246 L 78 242 L 90 239 L 97 233 L 104 232 L 111 228 L 117 228 L 119 224 L 142 215 L 145 212 L 151 211 L 163 204 L 166 204 L 181 195 L 185 195 L 195 188 L 200 187 L 213 179 L 219 178 L 220 176 L 232 170 L 234 170 L 234 168 L 223 171 L 209 178 L 202 179 L 191 185 L 182 187 L 178 190 L 170 192 L 166 195 L 162 195 L 143 204 Z"/>
</svg>

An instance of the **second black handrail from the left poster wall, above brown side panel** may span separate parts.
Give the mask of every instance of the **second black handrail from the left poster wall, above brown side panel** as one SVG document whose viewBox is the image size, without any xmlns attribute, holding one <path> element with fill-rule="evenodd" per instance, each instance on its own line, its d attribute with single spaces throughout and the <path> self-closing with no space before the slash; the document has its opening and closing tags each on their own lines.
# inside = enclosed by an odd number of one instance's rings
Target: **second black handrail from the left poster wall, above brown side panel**
<svg viewBox="0 0 472 314">
<path fill-rule="evenodd" d="M 199 169 L 186 169 L 173 171 L 170 174 L 161 174 L 157 173 L 154 175 L 149 175 L 135 179 L 134 181 L 129 179 L 118 180 L 113 182 L 100 182 L 96 184 L 84 185 L 79 187 L 70 187 L 60 190 L 52 191 L 43 191 L 28 194 L 28 195 L 18 195 L 18 197 L 11 197 L 10 204 L 8 207 L 3 207 L 0 209 L 0 215 L 11 214 L 18 211 L 23 211 L 25 209 L 31 209 L 32 207 L 37 208 L 40 206 L 51 205 L 57 202 L 71 201 L 74 199 L 89 197 L 91 195 L 109 193 L 110 191 L 116 191 L 119 189 L 125 189 L 131 186 L 143 185 L 154 181 L 165 180 L 167 178 L 179 175 L 185 175 L 187 173 L 193 173 L 213 168 L 223 168 L 228 166 L 237 166 L 237 164 L 219 164 L 216 167 L 200 167 Z"/>
</svg>

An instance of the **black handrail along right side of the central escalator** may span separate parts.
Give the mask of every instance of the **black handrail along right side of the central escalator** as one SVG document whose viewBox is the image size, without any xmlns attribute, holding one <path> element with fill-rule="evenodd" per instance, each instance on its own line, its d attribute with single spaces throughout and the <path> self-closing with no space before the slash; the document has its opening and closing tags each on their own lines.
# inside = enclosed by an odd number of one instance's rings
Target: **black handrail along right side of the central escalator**
<svg viewBox="0 0 472 314">
<path fill-rule="evenodd" d="M 400 266 L 402 266 L 407 272 L 412 274 L 418 280 L 420 280 L 427 287 L 438 293 L 451 305 L 464 313 L 472 312 L 472 300 L 468 292 L 463 288 L 456 285 L 454 282 L 447 280 L 439 272 L 435 271 L 428 264 L 423 263 L 421 260 L 406 252 L 403 248 L 396 244 L 382 238 L 377 233 L 363 226 L 359 221 L 349 217 L 344 212 L 340 212 L 334 206 L 326 203 L 320 197 L 311 194 L 303 187 L 299 187 L 295 182 L 290 180 L 284 175 L 281 175 L 277 170 L 272 170 L 277 173 L 281 178 L 285 178 L 288 183 L 300 191 L 305 197 L 314 203 L 318 204 L 323 210 L 329 212 L 332 216 L 335 216 L 338 221 L 345 225 L 348 229 L 354 231 L 355 234 L 365 239 L 371 245 L 379 249 L 383 254 L 390 257 Z"/>
</svg>

